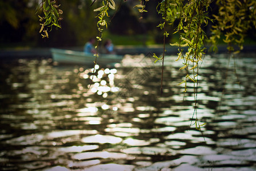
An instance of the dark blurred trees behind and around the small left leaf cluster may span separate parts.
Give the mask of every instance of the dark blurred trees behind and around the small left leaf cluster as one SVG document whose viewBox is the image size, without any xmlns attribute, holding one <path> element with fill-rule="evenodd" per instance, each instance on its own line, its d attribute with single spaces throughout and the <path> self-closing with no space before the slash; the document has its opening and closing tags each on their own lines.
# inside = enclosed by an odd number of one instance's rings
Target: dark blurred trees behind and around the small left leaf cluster
<svg viewBox="0 0 256 171">
<path fill-rule="evenodd" d="M 78 46 L 97 34 L 97 20 L 90 0 L 62 0 L 62 28 L 55 28 L 42 39 L 39 18 L 36 13 L 37 0 L 0 1 L 0 43 L 2 47 L 22 43 L 22 46 Z"/>
</svg>

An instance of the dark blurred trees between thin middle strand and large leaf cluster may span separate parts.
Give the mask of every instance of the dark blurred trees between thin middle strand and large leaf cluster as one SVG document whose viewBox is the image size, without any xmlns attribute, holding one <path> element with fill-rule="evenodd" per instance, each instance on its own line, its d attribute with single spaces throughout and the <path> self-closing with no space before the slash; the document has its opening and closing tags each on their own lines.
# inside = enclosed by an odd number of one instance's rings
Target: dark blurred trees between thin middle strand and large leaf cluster
<svg viewBox="0 0 256 171">
<path fill-rule="evenodd" d="M 162 31 L 157 27 L 161 21 L 161 16 L 158 15 L 155 9 L 159 2 L 161 1 L 154 0 L 147 2 L 145 10 L 149 11 L 148 13 L 139 13 L 134 8 L 138 4 L 138 1 L 126 1 L 122 3 L 117 13 L 111 14 L 111 17 L 113 15 L 114 17 L 111 19 L 109 31 L 117 35 L 141 34 L 145 35 L 145 39 L 148 39 L 150 36 L 154 39 L 154 43 L 162 43 Z M 173 32 L 171 28 L 173 27 L 169 27 L 168 29 L 170 32 Z"/>
</svg>

